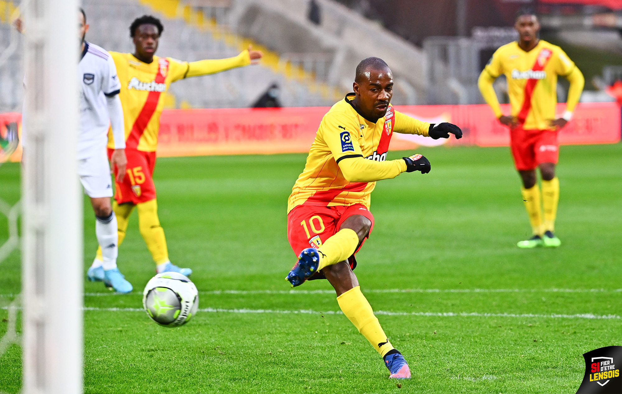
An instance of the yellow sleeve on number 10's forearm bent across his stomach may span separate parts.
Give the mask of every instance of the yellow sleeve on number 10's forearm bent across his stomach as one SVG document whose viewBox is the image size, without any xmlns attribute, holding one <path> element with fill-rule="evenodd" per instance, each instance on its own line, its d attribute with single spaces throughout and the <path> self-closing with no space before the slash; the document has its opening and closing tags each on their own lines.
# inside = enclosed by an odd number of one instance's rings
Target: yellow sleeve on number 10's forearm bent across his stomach
<svg viewBox="0 0 622 394">
<path fill-rule="evenodd" d="M 350 182 L 375 182 L 392 179 L 406 171 L 403 159 L 377 162 L 363 157 L 348 157 L 339 160 L 339 168 L 343 177 Z"/>
</svg>

